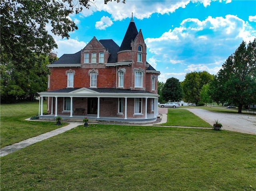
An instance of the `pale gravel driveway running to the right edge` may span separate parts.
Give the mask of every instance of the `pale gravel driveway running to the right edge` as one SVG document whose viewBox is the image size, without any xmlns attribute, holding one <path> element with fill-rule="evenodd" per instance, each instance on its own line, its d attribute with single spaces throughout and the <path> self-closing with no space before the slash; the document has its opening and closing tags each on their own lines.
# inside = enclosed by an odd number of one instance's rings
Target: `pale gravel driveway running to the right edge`
<svg viewBox="0 0 256 191">
<path fill-rule="evenodd" d="M 204 109 L 187 109 L 199 116 L 209 124 L 214 124 L 214 120 L 220 120 L 222 129 L 236 131 L 247 134 L 256 134 L 256 116 L 236 113 L 211 112 Z"/>
</svg>

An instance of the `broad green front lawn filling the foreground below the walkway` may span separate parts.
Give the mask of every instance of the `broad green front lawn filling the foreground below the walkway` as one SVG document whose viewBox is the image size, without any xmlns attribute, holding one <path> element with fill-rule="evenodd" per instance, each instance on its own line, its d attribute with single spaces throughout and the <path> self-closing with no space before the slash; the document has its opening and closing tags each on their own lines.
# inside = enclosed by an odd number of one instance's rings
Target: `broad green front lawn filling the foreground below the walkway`
<svg viewBox="0 0 256 191">
<path fill-rule="evenodd" d="M 15 112 L 21 127 L 30 112 Z M 0 190 L 255 191 L 255 156 L 250 134 L 91 124 L 1 157 Z"/>
</svg>

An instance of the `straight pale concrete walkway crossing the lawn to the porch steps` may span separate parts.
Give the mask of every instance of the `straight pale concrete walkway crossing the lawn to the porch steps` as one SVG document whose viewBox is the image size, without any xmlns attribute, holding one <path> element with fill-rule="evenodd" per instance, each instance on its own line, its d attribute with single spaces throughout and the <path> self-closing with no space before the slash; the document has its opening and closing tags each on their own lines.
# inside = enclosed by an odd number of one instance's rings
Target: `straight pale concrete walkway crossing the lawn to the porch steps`
<svg viewBox="0 0 256 191">
<path fill-rule="evenodd" d="M 64 126 L 64 127 L 58 128 L 56 130 L 44 133 L 42 135 L 38 135 L 36 137 L 29 138 L 27 140 L 18 142 L 16 144 L 13 144 L 13 145 L 10 145 L 10 146 L 6 146 L 4 148 L 1 148 L 0 156 L 1 157 L 2 156 L 6 156 L 6 155 L 8 155 L 8 154 L 10 154 L 10 153 L 12 153 L 14 151 L 17 151 L 17 150 L 20 150 L 20 149 L 22 149 L 24 147 L 30 146 L 30 145 L 32 145 L 32 144 L 34 144 L 36 142 L 48 139 L 48 138 L 53 137 L 55 135 L 61 134 L 61 133 L 65 132 L 65 131 L 68 131 L 68 130 L 70 130 L 72 128 L 75 128 L 78 125 L 82 125 L 82 123 L 72 122 L 72 123 L 70 123 L 67 126 Z"/>
</svg>

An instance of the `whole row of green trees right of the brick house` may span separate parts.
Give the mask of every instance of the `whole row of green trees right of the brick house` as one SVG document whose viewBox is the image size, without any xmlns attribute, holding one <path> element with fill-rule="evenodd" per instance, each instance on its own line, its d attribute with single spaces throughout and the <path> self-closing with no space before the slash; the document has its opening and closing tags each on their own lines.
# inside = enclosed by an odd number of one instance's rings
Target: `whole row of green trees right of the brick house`
<svg viewBox="0 0 256 191">
<path fill-rule="evenodd" d="M 158 82 L 160 102 L 185 102 L 204 105 L 217 102 L 242 107 L 256 103 L 256 39 L 240 44 L 230 55 L 217 75 L 206 71 L 187 73 L 184 81 L 169 78 Z"/>
</svg>

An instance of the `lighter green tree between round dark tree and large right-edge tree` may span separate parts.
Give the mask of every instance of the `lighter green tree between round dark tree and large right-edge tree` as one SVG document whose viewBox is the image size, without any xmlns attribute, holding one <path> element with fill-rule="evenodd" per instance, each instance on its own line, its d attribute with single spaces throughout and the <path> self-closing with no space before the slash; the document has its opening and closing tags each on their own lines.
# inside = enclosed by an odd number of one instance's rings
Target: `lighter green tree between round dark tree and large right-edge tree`
<svg viewBox="0 0 256 191">
<path fill-rule="evenodd" d="M 200 91 L 203 85 L 212 81 L 213 75 L 206 71 L 187 73 L 182 81 L 184 101 L 197 104 L 200 101 Z"/>
</svg>

